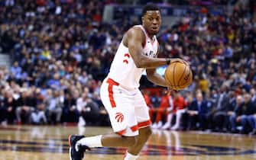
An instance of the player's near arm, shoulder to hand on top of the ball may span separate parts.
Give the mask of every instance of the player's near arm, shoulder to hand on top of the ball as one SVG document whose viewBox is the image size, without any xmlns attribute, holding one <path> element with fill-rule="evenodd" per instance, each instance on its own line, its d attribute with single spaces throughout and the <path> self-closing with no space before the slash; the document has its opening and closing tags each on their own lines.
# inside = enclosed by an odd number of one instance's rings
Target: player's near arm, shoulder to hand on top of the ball
<svg viewBox="0 0 256 160">
<path fill-rule="evenodd" d="M 123 40 L 124 45 L 128 47 L 131 57 L 138 68 L 157 68 L 158 66 L 168 65 L 174 61 L 184 62 L 182 59 L 163 59 L 145 56 L 143 53 L 145 38 L 140 28 L 133 27 L 128 30 Z"/>
</svg>

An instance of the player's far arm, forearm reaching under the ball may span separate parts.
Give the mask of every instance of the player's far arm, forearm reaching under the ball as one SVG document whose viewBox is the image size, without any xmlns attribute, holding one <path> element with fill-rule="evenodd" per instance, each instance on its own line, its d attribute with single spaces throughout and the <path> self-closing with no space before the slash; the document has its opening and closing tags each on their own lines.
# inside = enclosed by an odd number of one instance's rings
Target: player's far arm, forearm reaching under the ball
<svg viewBox="0 0 256 160">
<path fill-rule="evenodd" d="M 159 46 L 157 49 L 157 55 L 159 53 Z M 157 69 L 146 69 L 147 72 L 147 79 L 154 83 L 155 85 L 160 85 L 163 87 L 167 87 L 167 83 L 165 82 L 165 79 L 163 76 L 161 76 L 160 74 L 157 73 Z"/>
</svg>

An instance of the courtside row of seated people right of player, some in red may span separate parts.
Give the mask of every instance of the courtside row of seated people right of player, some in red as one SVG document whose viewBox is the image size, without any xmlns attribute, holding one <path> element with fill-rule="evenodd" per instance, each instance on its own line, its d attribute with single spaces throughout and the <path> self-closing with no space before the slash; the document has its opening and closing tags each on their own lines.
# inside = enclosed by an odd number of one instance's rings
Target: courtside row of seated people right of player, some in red
<svg viewBox="0 0 256 160">
<path fill-rule="evenodd" d="M 201 90 L 194 94 L 161 91 L 161 94 L 144 98 L 150 107 L 153 128 L 162 130 L 203 130 L 223 133 L 256 134 L 256 90 L 235 94 L 228 88 L 221 93 L 203 96 Z"/>
</svg>

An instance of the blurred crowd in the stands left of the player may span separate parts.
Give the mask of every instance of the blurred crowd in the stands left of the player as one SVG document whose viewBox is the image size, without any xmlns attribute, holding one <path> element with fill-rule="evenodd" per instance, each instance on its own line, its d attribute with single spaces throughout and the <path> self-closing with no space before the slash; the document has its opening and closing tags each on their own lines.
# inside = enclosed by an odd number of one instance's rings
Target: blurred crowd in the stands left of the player
<svg viewBox="0 0 256 160">
<path fill-rule="evenodd" d="M 107 3 L 0 2 L 0 46 L 14 61 L 0 72 L 2 120 L 109 123 L 99 87 L 122 31 L 101 23 Z"/>
</svg>

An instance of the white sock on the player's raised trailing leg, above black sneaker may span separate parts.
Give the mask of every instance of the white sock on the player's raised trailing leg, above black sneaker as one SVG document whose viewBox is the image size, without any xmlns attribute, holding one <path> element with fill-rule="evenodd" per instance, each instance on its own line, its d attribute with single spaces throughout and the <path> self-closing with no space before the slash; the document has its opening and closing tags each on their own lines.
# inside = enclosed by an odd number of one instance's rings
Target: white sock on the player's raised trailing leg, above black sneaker
<svg viewBox="0 0 256 160">
<path fill-rule="evenodd" d="M 89 148 L 102 147 L 102 135 L 90 136 L 80 139 L 79 141 L 76 142 L 76 147 L 78 145 L 88 146 Z"/>
</svg>

